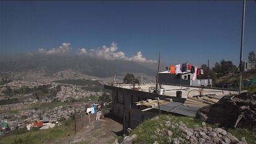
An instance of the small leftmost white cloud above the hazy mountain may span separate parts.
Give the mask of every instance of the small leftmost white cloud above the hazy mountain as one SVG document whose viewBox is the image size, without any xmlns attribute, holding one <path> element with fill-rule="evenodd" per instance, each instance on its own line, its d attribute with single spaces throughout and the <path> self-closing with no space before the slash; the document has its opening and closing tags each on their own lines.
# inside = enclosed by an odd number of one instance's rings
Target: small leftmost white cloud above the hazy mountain
<svg viewBox="0 0 256 144">
<path fill-rule="evenodd" d="M 62 43 L 61 46 L 59 46 L 59 48 L 49 49 L 49 51 L 40 48 L 38 49 L 38 52 L 45 54 L 70 54 L 71 49 L 72 48 L 70 47 L 70 43 Z"/>
</svg>

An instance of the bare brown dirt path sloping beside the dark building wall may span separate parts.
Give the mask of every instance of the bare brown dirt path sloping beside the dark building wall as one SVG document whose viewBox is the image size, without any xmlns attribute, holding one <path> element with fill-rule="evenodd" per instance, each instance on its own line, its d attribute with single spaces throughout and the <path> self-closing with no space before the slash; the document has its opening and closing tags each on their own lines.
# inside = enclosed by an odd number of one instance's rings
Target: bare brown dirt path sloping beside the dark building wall
<svg viewBox="0 0 256 144">
<path fill-rule="evenodd" d="M 108 117 L 96 121 L 80 130 L 77 134 L 52 142 L 63 143 L 113 143 L 122 133 L 122 124 Z"/>
</svg>

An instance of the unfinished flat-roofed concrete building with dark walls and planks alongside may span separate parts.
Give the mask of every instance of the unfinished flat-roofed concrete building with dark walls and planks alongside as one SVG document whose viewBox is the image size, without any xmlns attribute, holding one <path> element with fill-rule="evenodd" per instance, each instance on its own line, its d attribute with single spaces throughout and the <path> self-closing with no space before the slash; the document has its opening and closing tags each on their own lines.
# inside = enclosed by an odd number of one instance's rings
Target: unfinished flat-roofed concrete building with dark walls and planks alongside
<svg viewBox="0 0 256 144">
<path fill-rule="evenodd" d="M 173 112 L 176 114 L 181 114 L 185 116 L 195 116 L 195 112 L 198 108 L 205 106 L 205 104 L 193 105 L 188 101 L 188 97 L 198 96 L 198 95 L 211 95 L 216 98 L 221 98 L 223 95 L 229 93 L 236 93 L 236 91 L 225 91 L 225 90 L 213 90 L 205 88 L 192 88 L 192 87 L 179 87 L 173 85 L 164 85 L 166 91 L 163 95 L 158 95 L 158 93 L 150 93 L 150 87 L 155 84 L 147 84 L 139 86 L 139 90 L 132 90 L 132 85 L 119 85 L 110 86 L 105 85 L 105 88 L 112 91 L 112 108 L 111 111 L 117 118 L 122 120 L 123 129 L 126 133 L 128 128 L 134 129 L 137 125 L 146 119 L 155 117 L 159 114 L 159 109 L 147 107 L 143 104 L 137 104 L 138 101 L 150 101 L 159 98 L 160 100 L 170 100 L 169 105 L 161 106 L 162 112 Z M 138 86 L 135 86 L 138 87 Z M 201 90 L 201 91 L 200 91 Z M 181 97 L 176 96 L 176 91 L 182 91 Z M 187 101 L 187 102 L 186 102 Z M 177 109 L 177 107 L 180 107 Z"/>
</svg>

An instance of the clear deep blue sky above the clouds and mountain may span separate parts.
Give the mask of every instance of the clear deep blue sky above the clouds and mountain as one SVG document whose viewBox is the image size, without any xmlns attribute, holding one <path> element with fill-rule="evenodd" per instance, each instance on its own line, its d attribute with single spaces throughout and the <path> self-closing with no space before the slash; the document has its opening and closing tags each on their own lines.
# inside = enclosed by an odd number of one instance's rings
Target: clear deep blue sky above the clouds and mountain
<svg viewBox="0 0 256 144">
<path fill-rule="evenodd" d="M 168 64 L 239 61 L 242 1 L 0 1 L 1 55 L 70 43 L 76 49 L 117 43 L 131 57 Z M 247 1 L 244 58 L 256 52 L 256 2 Z"/>
</svg>

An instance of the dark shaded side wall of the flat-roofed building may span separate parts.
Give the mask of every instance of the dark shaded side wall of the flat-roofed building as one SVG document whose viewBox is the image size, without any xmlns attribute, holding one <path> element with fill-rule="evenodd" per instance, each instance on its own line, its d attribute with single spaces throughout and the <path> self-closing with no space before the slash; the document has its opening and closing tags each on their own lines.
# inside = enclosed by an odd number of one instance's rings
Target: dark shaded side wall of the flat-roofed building
<svg viewBox="0 0 256 144">
<path fill-rule="evenodd" d="M 158 110 L 151 109 L 149 111 L 142 112 L 141 109 L 145 109 L 145 106 L 136 106 L 135 102 L 152 99 L 155 97 L 159 97 L 161 100 L 165 98 L 173 98 L 173 101 L 183 103 L 186 99 L 184 98 L 176 98 L 176 96 L 165 96 L 158 95 L 157 93 L 148 93 L 145 91 L 136 91 L 130 90 L 126 88 L 113 87 L 109 85 L 104 86 L 106 89 L 112 90 L 112 112 L 114 116 L 119 119 L 122 119 L 123 129 L 127 130 L 127 128 L 134 129 L 141 122 L 146 119 L 150 119 L 158 115 Z M 122 93 L 124 101 L 123 103 L 118 103 L 117 101 L 117 93 Z"/>
</svg>

